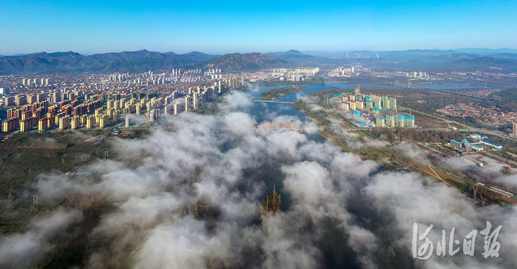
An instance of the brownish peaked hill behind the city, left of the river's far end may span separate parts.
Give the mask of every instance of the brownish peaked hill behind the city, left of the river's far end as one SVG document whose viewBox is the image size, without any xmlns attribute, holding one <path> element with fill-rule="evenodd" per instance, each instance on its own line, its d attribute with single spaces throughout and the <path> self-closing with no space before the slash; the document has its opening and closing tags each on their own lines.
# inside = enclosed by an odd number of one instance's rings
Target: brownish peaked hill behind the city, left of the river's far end
<svg viewBox="0 0 517 269">
<path fill-rule="evenodd" d="M 252 71 L 272 67 L 283 67 L 288 64 L 289 61 L 282 60 L 274 55 L 253 52 L 246 54 L 225 54 L 221 57 L 214 58 L 204 67 L 221 68 L 228 71 Z"/>
</svg>

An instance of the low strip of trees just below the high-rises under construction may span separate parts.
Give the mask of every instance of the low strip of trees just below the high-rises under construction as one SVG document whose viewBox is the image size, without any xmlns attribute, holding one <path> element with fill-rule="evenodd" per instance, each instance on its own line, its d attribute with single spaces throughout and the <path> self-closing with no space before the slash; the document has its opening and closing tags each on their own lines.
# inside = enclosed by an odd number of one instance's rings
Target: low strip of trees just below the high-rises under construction
<svg viewBox="0 0 517 269">
<path fill-rule="evenodd" d="M 401 140 L 409 140 L 415 142 L 443 142 L 449 140 L 463 140 L 465 136 L 460 133 L 451 131 L 436 131 L 436 130 L 418 130 L 407 128 L 381 128 L 375 127 L 369 130 L 373 136 L 387 140 L 388 142 L 395 142 L 396 138 Z"/>
</svg>

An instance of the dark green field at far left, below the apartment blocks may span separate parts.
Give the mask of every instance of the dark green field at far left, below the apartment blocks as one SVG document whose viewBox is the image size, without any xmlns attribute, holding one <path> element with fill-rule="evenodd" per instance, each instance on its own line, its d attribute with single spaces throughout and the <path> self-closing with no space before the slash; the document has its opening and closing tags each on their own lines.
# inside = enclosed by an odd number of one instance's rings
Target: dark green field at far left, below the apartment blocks
<svg viewBox="0 0 517 269">
<path fill-rule="evenodd" d="M 148 131 L 130 129 L 128 139 L 145 136 Z M 96 159 L 116 159 L 110 139 L 97 144 L 84 144 L 94 136 L 104 135 L 103 130 L 86 132 L 32 132 L 14 133 L 0 144 L 0 235 L 20 232 L 26 229 L 35 215 L 50 212 L 63 204 L 70 206 L 92 206 L 97 204 L 92 197 L 74 197 L 58 204 L 33 203 L 37 195 L 37 182 L 45 173 L 65 174 L 80 171 Z M 108 136 L 110 135 L 107 132 Z M 93 171 L 88 177 L 97 177 Z M 87 173 L 88 173 L 87 172 Z M 80 179 L 85 175 L 69 175 Z M 86 202 L 85 201 L 89 201 Z"/>
</svg>

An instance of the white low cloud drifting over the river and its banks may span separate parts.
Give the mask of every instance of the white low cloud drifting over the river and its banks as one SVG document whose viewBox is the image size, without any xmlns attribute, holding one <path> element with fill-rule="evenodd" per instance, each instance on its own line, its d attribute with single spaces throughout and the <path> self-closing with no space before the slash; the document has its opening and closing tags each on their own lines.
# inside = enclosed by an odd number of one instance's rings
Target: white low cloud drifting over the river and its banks
<svg viewBox="0 0 517 269">
<path fill-rule="evenodd" d="M 249 96 L 234 92 L 223 98 L 224 114 L 184 113 L 167 118 L 148 136 L 110 141 L 117 158 L 83 167 L 97 171 L 94 175 L 39 175 L 34 184 L 39 205 L 29 208 L 44 211 L 26 229 L 0 238 L 0 267 L 511 268 L 517 263 L 514 205 L 480 207 L 434 178 L 382 171 L 377 162 L 311 139 L 317 128 L 306 118 L 270 117 L 277 126 L 307 127 L 305 133 L 256 131 L 250 126 L 260 122 L 246 113 L 251 106 Z M 418 136 L 404 129 L 394 130 L 396 135 Z M 367 147 L 362 143 L 356 147 Z M 282 211 L 260 219 L 273 186 Z M 434 225 L 428 237 L 436 244 L 442 229 L 449 233 L 454 227 L 456 238 L 463 239 L 486 228 L 486 221 L 503 226 L 498 241 L 504 259 L 483 258 L 479 238 L 473 257 L 412 257 L 413 224 Z M 36 250 L 39 255 L 28 255 Z"/>
</svg>

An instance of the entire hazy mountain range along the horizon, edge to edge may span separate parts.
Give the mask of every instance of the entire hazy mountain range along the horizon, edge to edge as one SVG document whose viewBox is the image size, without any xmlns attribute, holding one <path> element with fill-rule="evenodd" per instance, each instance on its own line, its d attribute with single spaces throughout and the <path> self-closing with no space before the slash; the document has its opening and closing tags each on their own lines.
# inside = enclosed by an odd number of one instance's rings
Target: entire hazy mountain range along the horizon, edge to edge
<svg viewBox="0 0 517 269">
<path fill-rule="evenodd" d="M 476 53 L 474 53 L 476 52 Z M 297 50 L 262 54 L 210 55 L 201 52 L 110 52 L 88 56 L 77 52 L 39 52 L 0 56 L 0 74 L 53 74 L 70 72 L 163 72 L 174 68 L 221 68 L 227 72 L 255 71 L 273 67 L 327 66 L 363 63 L 381 69 L 427 72 L 494 71 L 517 72 L 517 50 L 460 49 L 406 50 L 392 52 L 314 52 Z"/>
</svg>

